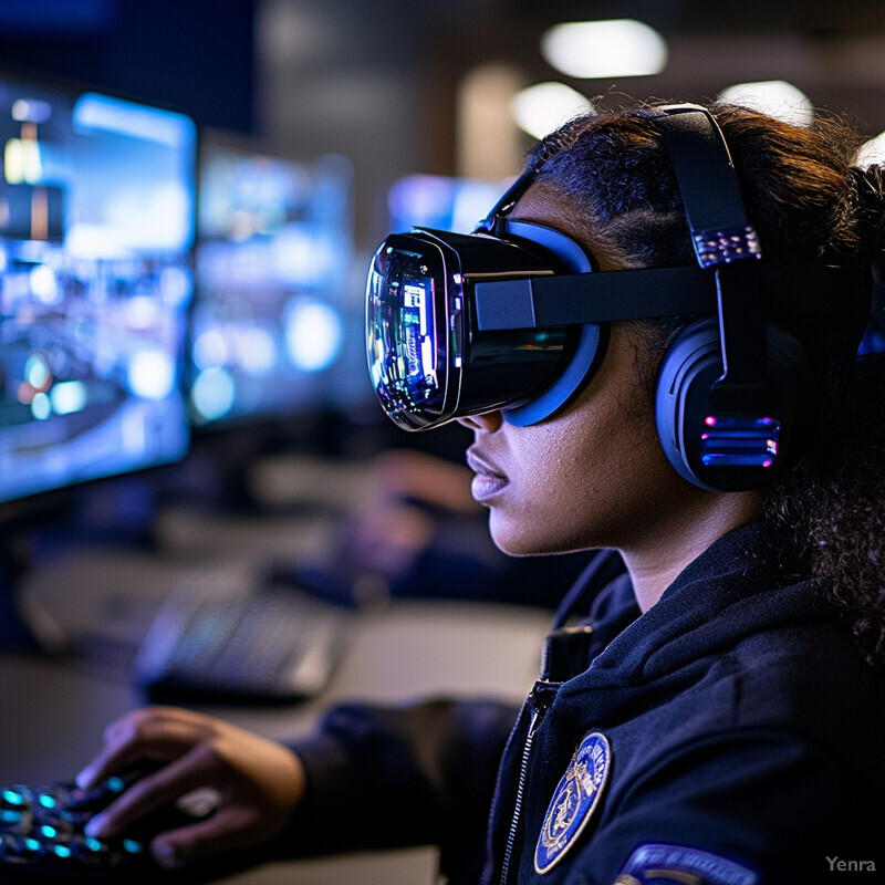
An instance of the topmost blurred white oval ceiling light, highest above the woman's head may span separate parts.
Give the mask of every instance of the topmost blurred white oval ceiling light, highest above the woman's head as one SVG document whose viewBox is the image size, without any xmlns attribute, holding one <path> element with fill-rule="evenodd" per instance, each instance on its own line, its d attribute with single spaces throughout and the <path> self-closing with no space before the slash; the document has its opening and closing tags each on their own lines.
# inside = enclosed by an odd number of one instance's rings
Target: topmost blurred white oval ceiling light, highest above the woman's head
<svg viewBox="0 0 885 885">
<path fill-rule="evenodd" d="M 664 38 L 634 19 L 556 24 L 541 38 L 541 52 L 558 71 L 576 77 L 657 74 L 667 63 Z"/>
</svg>

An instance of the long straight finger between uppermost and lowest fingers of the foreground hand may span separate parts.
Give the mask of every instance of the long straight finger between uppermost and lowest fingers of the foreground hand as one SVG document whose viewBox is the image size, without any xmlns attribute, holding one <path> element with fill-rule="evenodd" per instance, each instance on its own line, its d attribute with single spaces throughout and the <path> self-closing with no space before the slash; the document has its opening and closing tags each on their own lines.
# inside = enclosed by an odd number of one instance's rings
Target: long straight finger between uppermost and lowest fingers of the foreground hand
<svg viewBox="0 0 885 885">
<path fill-rule="evenodd" d="M 86 835 L 104 839 L 119 833 L 139 818 L 205 784 L 210 780 L 212 759 L 204 747 L 195 747 L 159 771 L 136 781 L 90 820 Z"/>
</svg>

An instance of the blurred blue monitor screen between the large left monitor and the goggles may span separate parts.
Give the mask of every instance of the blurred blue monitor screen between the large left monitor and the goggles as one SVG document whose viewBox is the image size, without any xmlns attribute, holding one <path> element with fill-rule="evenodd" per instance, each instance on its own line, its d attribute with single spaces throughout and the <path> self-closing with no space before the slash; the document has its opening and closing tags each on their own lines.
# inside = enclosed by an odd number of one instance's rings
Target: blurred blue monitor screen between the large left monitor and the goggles
<svg viewBox="0 0 885 885">
<path fill-rule="evenodd" d="M 352 282 L 351 191 L 343 157 L 306 163 L 205 138 L 188 346 L 195 427 L 288 416 L 330 395 Z"/>
</svg>

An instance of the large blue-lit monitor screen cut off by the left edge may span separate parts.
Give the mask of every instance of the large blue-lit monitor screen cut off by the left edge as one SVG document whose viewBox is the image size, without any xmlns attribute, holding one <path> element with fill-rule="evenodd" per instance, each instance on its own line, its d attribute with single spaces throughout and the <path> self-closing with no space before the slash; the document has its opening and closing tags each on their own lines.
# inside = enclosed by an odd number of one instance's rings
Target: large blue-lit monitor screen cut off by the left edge
<svg viewBox="0 0 885 885">
<path fill-rule="evenodd" d="M 0 74 L 0 500 L 180 458 L 196 127 Z"/>
</svg>

